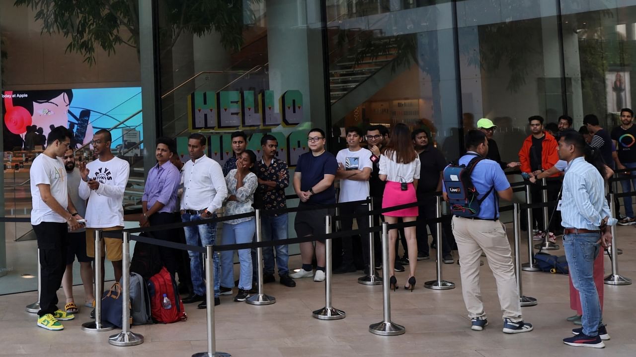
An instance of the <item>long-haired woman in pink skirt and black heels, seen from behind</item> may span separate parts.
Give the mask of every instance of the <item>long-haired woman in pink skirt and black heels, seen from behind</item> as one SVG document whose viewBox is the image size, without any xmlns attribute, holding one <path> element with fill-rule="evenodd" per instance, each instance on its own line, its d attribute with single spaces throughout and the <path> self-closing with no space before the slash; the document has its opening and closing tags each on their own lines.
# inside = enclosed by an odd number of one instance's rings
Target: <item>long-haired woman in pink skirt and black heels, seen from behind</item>
<svg viewBox="0 0 636 357">
<path fill-rule="evenodd" d="M 420 158 L 413 148 L 411 131 L 402 123 L 394 126 L 382 156 L 380 156 L 380 180 L 386 181 L 382 198 L 382 208 L 406 205 L 417 202 L 415 188 L 420 178 Z M 396 224 L 397 219 L 413 222 L 417 218 L 417 206 L 384 213 L 384 219 L 389 224 Z M 409 277 L 405 289 L 413 291 L 415 288 L 415 266 L 417 263 L 417 241 L 415 226 L 404 228 L 406 246 L 408 247 Z M 397 229 L 389 231 L 389 267 L 391 267 L 391 288 L 395 291 L 397 280 L 393 267 L 395 266 Z"/>
</svg>

